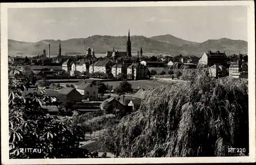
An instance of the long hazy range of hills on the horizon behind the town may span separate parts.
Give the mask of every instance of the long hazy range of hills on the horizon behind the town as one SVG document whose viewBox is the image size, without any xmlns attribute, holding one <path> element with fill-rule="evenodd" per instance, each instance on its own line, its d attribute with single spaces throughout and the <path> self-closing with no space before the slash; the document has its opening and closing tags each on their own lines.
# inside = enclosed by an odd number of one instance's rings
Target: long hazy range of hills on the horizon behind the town
<svg viewBox="0 0 256 165">
<path fill-rule="evenodd" d="M 94 47 L 96 54 L 115 50 L 125 51 L 127 36 L 91 36 L 88 38 L 76 38 L 69 40 L 42 40 L 38 42 L 20 42 L 8 40 L 9 56 L 37 56 L 42 54 L 45 48 L 48 54 L 48 44 L 51 44 L 51 56 L 58 55 L 59 43 L 61 43 L 62 54 L 81 54 L 87 47 Z M 181 53 L 184 56 L 202 56 L 207 50 L 226 51 L 228 54 L 247 53 L 247 42 L 243 40 L 231 40 L 222 38 L 219 40 L 207 40 L 203 43 L 185 41 L 171 35 L 155 36 L 147 38 L 144 36 L 131 36 L 132 53 L 136 54 L 142 46 L 144 54 L 162 53 L 176 56 Z M 85 43 L 85 45 L 84 45 Z"/>
</svg>

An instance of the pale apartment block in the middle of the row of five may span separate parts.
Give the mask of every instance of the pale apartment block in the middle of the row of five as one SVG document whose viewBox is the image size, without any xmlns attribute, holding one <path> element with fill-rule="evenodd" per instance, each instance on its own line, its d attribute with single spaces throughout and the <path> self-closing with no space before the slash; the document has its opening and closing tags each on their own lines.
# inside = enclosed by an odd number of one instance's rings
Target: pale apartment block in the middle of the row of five
<svg viewBox="0 0 256 165">
<path fill-rule="evenodd" d="M 108 73 L 108 70 L 111 70 L 111 66 L 113 65 L 113 62 L 110 60 L 99 60 L 95 62 L 94 64 L 90 65 L 89 72 L 95 73 L 95 72 L 101 72 L 101 73 Z"/>
</svg>

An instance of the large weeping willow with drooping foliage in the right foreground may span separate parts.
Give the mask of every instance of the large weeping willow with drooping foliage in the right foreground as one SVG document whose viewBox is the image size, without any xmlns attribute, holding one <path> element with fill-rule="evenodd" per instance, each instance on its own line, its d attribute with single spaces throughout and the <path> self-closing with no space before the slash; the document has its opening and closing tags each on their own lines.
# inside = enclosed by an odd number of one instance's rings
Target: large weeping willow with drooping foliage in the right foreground
<svg viewBox="0 0 256 165">
<path fill-rule="evenodd" d="M 147 93 L 113 131 L 121 157 L 238 156 L 228 148 L 241 146 L 248 155 L 248 80 L 214 79 L 199 68 L 190 82 Z"/>
</svg>

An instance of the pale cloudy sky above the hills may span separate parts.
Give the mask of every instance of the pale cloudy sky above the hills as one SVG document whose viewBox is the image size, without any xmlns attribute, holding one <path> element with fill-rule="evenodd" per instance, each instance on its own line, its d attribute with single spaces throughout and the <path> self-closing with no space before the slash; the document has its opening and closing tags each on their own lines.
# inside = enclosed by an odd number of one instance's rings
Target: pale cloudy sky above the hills
<svg viewBox="0 0 256 165">
<path fill-rule="evenodd" d="M 152 37 L 170 34 L 204 42 L 247 41 L 246 6 L 9 8 L 8 39 L 37 42 L 93 35 Z"/>
</svg>

